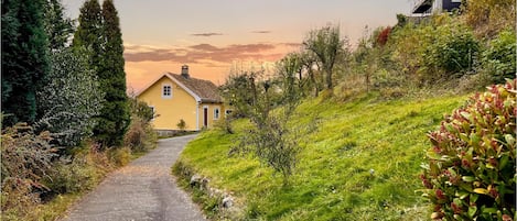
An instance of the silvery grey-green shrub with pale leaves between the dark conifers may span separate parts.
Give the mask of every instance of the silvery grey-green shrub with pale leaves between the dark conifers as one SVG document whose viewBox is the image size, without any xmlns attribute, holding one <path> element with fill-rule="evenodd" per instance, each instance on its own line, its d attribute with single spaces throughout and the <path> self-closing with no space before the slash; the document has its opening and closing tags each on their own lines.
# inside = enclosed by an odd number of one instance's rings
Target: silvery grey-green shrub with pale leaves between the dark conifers
<svg viewBox="0 0 517 221">
<path fill-rule="evenodd" d="M 37 92 L 40 120 L 35 128 L 50 131 L 60 146 L 76 146 L 91 135 L 104 96 L 86 53 L 52 52 L 51 64 L 46 86 Z"/>
</svg>

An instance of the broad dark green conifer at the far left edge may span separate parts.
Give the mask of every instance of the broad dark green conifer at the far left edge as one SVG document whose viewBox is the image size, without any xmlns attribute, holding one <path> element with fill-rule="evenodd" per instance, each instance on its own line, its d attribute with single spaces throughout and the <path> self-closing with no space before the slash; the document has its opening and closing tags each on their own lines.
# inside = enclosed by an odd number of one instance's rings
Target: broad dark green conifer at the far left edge
<svg viewBox="0 0 517 221">
<path fill-rule="evenodd" d="M 43 12 L 43 0 L 2 0 L 3 125 L 35 121 L 35 93 L 49 71 Z"/>
</svg>

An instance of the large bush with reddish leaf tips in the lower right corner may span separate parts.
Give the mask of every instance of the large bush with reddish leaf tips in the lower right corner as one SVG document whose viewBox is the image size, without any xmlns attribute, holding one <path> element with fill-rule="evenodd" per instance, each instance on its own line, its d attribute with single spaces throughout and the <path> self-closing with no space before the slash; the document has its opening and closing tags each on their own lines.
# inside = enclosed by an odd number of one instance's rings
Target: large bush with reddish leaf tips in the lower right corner
<svg viewBox="0 0 517 221">
<path fill-rule="evenodd" d="M 420 178 L 432 219 L 515 220 L 516 82 L 476 95 L 429 134 Z"/>
</svg>

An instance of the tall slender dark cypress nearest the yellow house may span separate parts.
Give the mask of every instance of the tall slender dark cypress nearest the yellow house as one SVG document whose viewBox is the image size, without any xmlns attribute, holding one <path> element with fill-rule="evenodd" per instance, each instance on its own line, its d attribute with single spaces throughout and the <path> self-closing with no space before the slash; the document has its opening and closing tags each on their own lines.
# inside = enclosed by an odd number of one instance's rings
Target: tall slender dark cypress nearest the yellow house
<svg viewBox="0 0 517 221">
<path fill-rule="evenodd" d="M 103 3 L 104 53 L 98 71 L 106 102 L 97 129 L 97 136 L 107 145 L 121 145 L 130 122 L 123 70 L 122 33 L 112 0 Z"/>
</svg>

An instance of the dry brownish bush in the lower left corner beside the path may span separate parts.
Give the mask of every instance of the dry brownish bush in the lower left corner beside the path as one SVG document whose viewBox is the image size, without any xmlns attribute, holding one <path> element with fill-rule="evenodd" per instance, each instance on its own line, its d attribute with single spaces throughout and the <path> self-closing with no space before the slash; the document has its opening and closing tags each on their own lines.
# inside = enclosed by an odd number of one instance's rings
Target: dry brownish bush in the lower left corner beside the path
<svg viewBox="0 0 517 221">
<path fill-rule="evenodd" d="M 25 216 L 40 202 L 37 191 L 47 189 L 42 179 L 51 170 L 56 150 L 49 144 L 49 132 L 36 135 L 24 123 L 7 128 L 1 137 L 2 218 Z"/>
</svg>

